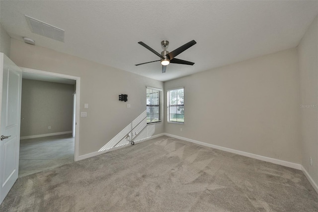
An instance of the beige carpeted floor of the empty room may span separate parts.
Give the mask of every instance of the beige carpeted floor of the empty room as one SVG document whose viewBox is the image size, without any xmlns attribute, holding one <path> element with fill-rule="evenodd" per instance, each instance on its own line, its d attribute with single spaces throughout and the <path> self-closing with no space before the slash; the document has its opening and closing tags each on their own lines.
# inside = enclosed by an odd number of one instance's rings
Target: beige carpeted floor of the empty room
<svg viewBox="0 0 318 212">
<path fill-rule="evenodd" d="M 19 178 L 1 212 L 314 212 L 300 170 L 167 136 Z"/>
</svg>

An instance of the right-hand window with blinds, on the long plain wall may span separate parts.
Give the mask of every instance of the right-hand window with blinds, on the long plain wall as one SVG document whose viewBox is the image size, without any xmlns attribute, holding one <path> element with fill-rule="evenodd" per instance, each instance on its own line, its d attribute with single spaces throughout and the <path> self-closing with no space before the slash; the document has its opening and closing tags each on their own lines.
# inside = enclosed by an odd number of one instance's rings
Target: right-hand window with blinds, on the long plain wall
<svg viewBox="0 0 318 212">
<path fill-rule="evenodd" d="M 167 98 L 168 122 L 184 123 L 184 88 L 168 90 Z"/>
</svg>

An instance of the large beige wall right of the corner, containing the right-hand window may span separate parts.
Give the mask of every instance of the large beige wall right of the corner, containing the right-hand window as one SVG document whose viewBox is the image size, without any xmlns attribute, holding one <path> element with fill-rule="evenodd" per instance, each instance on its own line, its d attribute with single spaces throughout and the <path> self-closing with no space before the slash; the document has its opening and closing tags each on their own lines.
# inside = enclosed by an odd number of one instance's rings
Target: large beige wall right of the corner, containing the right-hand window
<svg viewBox="0 0 318 212">
<path fill-rule="evenodd" d="M 297 61 L 289 49 L 165 82 L 165 92 L 184 86 L 185 100 L 184 125 L 165 132 L 300 163 Z"/>
</svg>

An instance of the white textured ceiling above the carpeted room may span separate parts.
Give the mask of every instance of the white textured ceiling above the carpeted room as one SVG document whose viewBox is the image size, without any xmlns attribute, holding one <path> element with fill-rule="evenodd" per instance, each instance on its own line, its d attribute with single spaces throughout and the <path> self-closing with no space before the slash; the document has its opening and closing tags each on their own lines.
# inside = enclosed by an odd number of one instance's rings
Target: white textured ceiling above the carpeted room
<svg viewBox="0 0 318 212">
<path fill-rule="evenodd" d="M 64 29 L 65 42 L 32 33 L 24 14 Z M 317 0 L 0 1 L 12 38 L 160 81 L 296 47 L 317 14 Z M 139 41 L 160 53 L 161 40 L 172 51 L 193 39 L 177 56 L 193 66 L 170 64 L 162 74 L 159 62 L 134 65 L 159 59 Z"/>
</svg>

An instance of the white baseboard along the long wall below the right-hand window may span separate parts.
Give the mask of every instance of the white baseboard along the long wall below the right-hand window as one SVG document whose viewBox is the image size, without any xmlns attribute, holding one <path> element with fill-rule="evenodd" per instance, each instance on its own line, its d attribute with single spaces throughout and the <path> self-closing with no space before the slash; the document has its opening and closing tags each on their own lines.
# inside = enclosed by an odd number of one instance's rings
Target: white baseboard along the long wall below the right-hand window
<svg viewBox="0 0 318 212">
<path fill-rule="evenodd" d="M 246 156 L 246 157 L 250 157 L 250 158 L 254 158 L 254 159 L 258 159 L 258 160 L 262 160 L 262 161 L 266 161 L 266 162 L 271 162 L 274 164 L 278 164 L 278 165 L 282 165 L 282 166 L 286 166 L 286 167 L 290 167 L 290 168 L 294 168 L 294 169 L 298 169 L 298 170 L 302 170 L 302 165 L 297 164 L 297 163 L 292 163 L 292 162 L 288 162 L 288 161 L 284 161 L 284 160 L 269 158 L 269 157 L 265 157 L 265 156 L 261 156 L 261 155 L 256 155 L 256 154 L 252 154 L 252 153 L 248 153 L 248 152 L 230 149 L 227 147 L 217 146 L 217 145 L 213 145 L 213 144 L 209 144 L 209 143 L 205 143 L 205 142 L 201 142 L 201 141 L 197 141 L 197 140 L 192 140 L 189 138 L 184 138 L 181 136 L 172 135 L 172 134 L 168 134 L 168 133 L 164 133 L 164 135 L 169 136 L 169 137 L 173 137 L 173 138 L 177 138 L 177 139 L 181 139 L 181 140 L 185 140 L 185 141 L 189 141 L 192 143 L 196 143 L 196 144 L 199 144 L 202 146 L 207 146 L 207 147 L 211 147 L 214 149 L 219 149 L 219 150 L 223 150 L 226 152 L 231 152 L 231 153 L 235 153 L 238 155 L 242 155 L 242 156 Z"/>
</svg>

